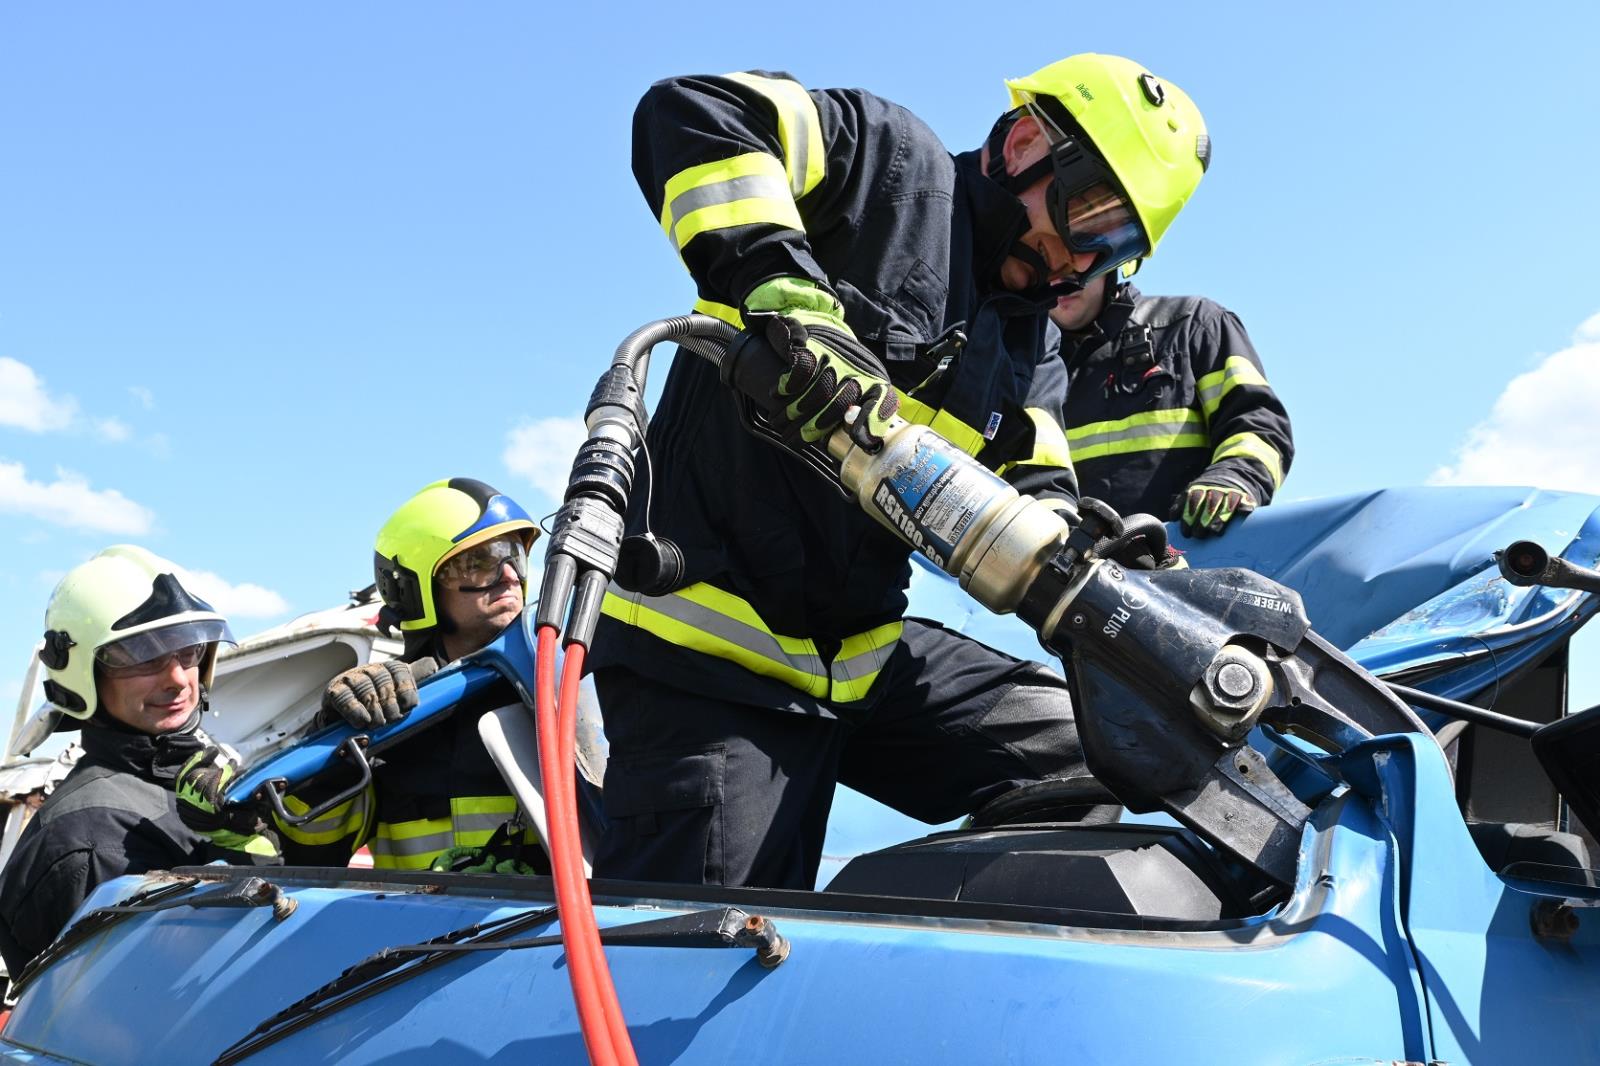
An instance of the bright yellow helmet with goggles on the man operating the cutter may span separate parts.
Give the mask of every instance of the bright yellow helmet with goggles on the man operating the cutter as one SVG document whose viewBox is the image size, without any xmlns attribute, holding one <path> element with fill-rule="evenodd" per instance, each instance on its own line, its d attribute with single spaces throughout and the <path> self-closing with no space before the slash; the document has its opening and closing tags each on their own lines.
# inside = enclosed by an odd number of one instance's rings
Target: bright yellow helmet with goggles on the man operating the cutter
<svg viewBox="0 0 1600 1066">
<path fill-rule="evenodd" d="M 1094 53 L 1006 86 L 1011 106 L 1045 128 L 1051 157 L 1005 184 L 1022 189 L 1054 171 L 1048 202 L 1056 229 L 1074 251 L 1096 253 L 1080 280 L 1152 254 L 1211 163 L 1194 101 L 1131 59 Z M 994 166 L 990 152 L 990 173 Z"/>
</svg>

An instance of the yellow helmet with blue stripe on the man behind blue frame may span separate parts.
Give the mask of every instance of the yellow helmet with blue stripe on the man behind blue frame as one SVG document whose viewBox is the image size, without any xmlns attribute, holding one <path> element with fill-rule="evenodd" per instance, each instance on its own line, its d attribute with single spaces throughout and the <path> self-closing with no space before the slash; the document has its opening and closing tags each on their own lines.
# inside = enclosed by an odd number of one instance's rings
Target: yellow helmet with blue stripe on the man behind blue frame
<svg viewBox="0 0 1600 1066">
<path fill-rule="evenodd" d="M 539 539 L 539 525 L 515 499 L 470 477 L 434 482 L 400 504 L 378 530 L 373 576 L 390 624 L 403 632 L 438 624 L 434 576 L 454 555 L 507 533 L 520 533 L 523 551 Z M 528 595 L 526 560 L 518 565 Z"/>
</svg>

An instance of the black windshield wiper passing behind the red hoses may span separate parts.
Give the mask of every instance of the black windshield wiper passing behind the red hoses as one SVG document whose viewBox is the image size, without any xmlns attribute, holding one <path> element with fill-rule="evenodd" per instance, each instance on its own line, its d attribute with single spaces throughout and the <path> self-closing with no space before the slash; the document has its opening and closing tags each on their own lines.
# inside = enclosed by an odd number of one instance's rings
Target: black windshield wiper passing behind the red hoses
<svg viewBox="0 0 1600 1066">
<path fill-rule="evenodd" d="M 242 1040 L 229 1045 L 218 1055 L 214 1066 L 229 1066 L 230 1063 L 243 1061 L 283 1037 L 299 1032 L 370 996 L 394 988 L 418 973 L 426 973 L 458 954 L 560 946 L 560 935 L 512 940 L 512 936 L 525 928 L 555 917 L 555 908 L 544 908 L 493 922 L 467 925 L 422 941 L 421 944 L 400 944 L 376 951 L 309 996 L 301 997 L 262 1021 Z M 610 925 L 600 930 L 600 943 L 616 948 L 750 948 L 766 968 L 773 968 L 789 957 L 789 941 L 778 932 L 778 924 L 760 914 L 746 914 L 739 908 L 694 911 L 650 922 Z M 411 965 L 406 965 L 408 962 Z"/>
</svg>

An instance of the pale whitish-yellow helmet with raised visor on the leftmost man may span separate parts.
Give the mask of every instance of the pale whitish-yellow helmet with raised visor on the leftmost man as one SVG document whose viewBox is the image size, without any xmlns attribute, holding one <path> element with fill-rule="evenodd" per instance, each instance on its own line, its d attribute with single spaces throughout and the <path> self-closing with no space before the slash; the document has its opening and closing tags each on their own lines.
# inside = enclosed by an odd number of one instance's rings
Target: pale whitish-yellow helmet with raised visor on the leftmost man
<svg viewBox="0 0 1600 1066">
<path fill-rule="evenodd" d="M 75 719 L 99 706 L 94 661 L 149 663 L 206 645 L 200 683 L 211 685 L 218 642 L 235 643 L 227 621 L 178 579 L 178 567 L 133 544 L 115 544 L 74 567 L 45 608 L 45 698 Z"/>
</svg>

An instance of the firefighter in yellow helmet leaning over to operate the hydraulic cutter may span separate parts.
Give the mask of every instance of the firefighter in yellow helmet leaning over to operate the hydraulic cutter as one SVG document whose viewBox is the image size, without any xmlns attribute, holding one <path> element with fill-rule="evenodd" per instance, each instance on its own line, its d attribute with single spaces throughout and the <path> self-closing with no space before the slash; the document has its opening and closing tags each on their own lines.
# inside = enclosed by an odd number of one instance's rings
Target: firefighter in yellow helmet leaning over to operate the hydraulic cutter
<svg viewBox="0 0 1600 1066">
<path fill-rule="evenodd" d="M 1210 141 L 1128 59 L 1008 85 L 987 144 L 952 157 L 866 91 L 670 78 L 635 112 L 634 173 L 696 311 L 789 367 L 790 440 L 854 407 L 874 447 L 898 411 L 1070 517 L 1046 312 L 1154 251 Z M 1061 677 L 902 619 L 907 549 L 747 434 L 710 365 L 675 360 L 648 447 L 629 530 L 662 565 L 619 573 L 589 659 L 611 744 L 598 876 L 810 888 L 837 781 L 938 823 L 1083 773 Z"/>
</svg>

